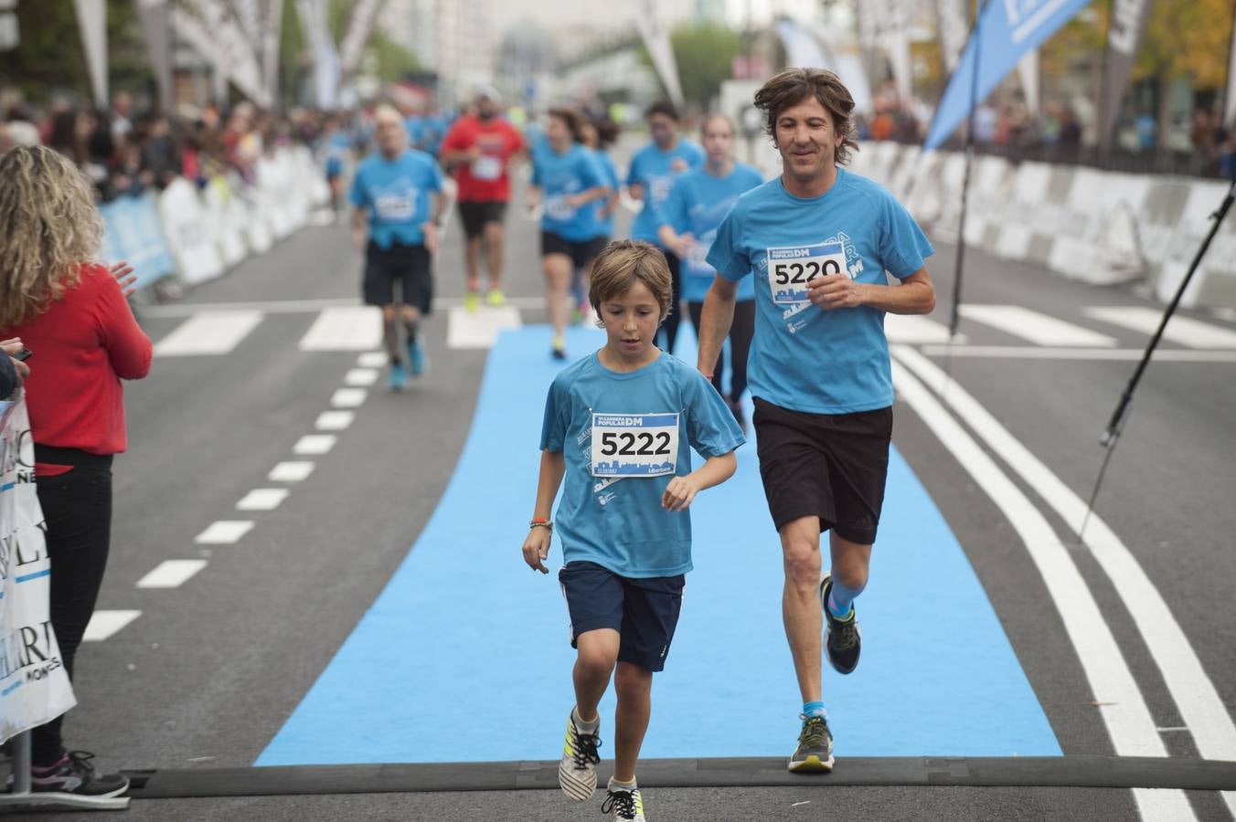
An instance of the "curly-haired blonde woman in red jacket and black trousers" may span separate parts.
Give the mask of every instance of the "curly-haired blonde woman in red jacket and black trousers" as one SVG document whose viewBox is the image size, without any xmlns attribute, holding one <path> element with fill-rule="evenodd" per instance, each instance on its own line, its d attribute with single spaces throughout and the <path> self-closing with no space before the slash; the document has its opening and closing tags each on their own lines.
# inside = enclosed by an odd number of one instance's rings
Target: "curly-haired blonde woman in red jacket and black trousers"
<svg viewBox="0 0 1236 822">
<path fill-rule="evenodd" d="M 0 157 L 0 339 L 33 352 L 26 402 L 52 560 L 51 616 L 69 676 L 108 564 L 111 457 L 125 450 L 121 379 L 151 367 L 151 341 L 120 284 L 93 260 L 103 220 L 90 184 L 49 148 Z M 68 753 L 57 718 L 31 733 L 36 791 L 117 796 L 120 775 Z"/>
</svg>

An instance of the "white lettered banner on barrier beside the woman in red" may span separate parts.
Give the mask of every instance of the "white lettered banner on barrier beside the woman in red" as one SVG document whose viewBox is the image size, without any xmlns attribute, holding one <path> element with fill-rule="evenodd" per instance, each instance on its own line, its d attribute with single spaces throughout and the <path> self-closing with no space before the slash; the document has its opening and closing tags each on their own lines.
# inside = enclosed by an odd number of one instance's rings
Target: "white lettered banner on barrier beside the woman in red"
<svg viewBox="0 0 1236 822">
<path fill-rule="evenodd" d="M 49 616 L 52 564 L 25 400 L 0 402 L 0 743 L 77 705 Z"/>
</svg>

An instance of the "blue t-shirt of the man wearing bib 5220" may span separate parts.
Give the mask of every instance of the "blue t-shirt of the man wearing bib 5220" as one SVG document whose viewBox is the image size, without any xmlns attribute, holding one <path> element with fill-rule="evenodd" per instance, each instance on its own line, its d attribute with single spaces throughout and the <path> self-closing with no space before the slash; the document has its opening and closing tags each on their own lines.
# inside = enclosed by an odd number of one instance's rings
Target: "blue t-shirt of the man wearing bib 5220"
<svg viewBox="0 0 1236 822">
<path fill-rule="evenodd" d="M 859 283 L 885 285 L 885 270 L 905 279 L 933 252 L 905 206 L 840 167 L 818 197 L 791 195 L 781 178 L 738 197 L 717 230 L 708 264 L 732 281 L 754 279 L 751 395 L 808 413 L 892 405 L 884 312 L 824 311 L 806 301 L 806 280 L 845 272 Z"/>
</svg>

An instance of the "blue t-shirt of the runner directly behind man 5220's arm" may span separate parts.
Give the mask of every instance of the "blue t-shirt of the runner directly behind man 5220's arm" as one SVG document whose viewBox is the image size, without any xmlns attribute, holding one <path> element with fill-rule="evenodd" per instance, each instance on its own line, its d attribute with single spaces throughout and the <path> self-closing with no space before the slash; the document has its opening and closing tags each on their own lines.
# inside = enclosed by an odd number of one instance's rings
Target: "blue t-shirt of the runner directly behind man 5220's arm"
<svg viewBox="0 0 1236 822">
<path fill-rule="evenodd" d="M 682 299 L 703 302 L 717 272 L 707 263 L 708 249 L 717 237 L 717 226 L 726 218 L 738 195 L 764 183 L 764 175 L 744 163 L 735 163 L 727 176 L 713 176 L 697 168 L 674 178 L 670 195 L 661 207 L 661 225 L 677 233 L 691 232 L 696 238 L 695 253 L 682 259 Z M 738 299 L 754 300 L 751 278 L 738 281 Z"/>
</svg>

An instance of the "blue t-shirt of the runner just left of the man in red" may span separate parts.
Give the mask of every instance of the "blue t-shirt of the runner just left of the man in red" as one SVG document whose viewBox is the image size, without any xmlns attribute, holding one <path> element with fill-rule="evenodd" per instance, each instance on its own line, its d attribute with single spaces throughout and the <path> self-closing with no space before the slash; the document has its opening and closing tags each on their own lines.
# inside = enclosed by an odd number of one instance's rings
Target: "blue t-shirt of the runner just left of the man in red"
<svg viewBox="0 0 1236 822">
<path fill-rule="evenodd" d="M 371 154 L 356 169 L 349 200 L 370 216 L 370 239 L 378 248 L 394 243 L 420 246 L 424 225 L 433 217 L 429 195 L 442 190 L 442 173 L 434 158 L 409 148 L 388 160 Z"/>
</svg>

